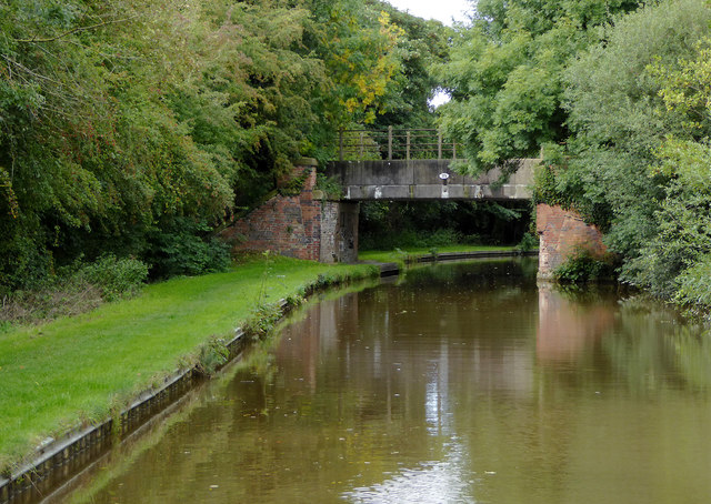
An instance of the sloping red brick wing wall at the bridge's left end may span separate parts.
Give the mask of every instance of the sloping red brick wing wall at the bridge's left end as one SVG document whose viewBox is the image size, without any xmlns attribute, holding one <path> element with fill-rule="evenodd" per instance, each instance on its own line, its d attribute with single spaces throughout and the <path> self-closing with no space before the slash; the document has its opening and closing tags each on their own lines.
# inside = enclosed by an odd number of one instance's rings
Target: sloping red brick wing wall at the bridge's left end
<svg viewBox="0 0 711 504">
<path fill-rule="evenodd" d="M 236 250 L 272 252 L 318 261 L 321 241 L 321 202 L 313 199 L 316 169 L 297 167 L 290 179 L 309 171 L 301 194 L 277 194 L 222 234 Z M 286 182 L 286 181 L 283 181 Z M 241 238 L 246 241 L 241 241 Z"/>
</svg>

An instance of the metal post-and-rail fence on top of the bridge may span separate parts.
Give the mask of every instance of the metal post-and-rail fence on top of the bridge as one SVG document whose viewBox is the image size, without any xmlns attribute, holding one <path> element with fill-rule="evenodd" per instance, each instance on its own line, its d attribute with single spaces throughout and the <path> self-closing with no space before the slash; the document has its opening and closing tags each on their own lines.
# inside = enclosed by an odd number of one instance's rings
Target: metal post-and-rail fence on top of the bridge
<svg viewBox="0 0 711 504">
<path fill-rule="evenodd" d="M 435 129 L 341 130 L 339 160 L 457 159 L 461 145 Z"/>
</svg>

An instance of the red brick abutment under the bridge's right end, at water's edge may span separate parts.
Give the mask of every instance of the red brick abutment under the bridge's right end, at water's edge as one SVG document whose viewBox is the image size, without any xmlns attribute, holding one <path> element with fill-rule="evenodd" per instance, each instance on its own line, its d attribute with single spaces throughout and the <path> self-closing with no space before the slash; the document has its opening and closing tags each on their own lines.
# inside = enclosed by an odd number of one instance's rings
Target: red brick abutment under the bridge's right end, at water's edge
<svg viewBox="0 0 711 504">
<path fill-rule="evenodd" d="M 605 253 L 602 233 L 594 225 L 585 224 L 574 211 L 539 204 L 535 212 L 541 243 L 538 266 L 540 278 L 551 278 L 553 270 L 581 248 L 593 255 Z"/>
</svg>

